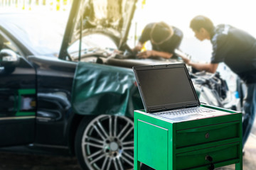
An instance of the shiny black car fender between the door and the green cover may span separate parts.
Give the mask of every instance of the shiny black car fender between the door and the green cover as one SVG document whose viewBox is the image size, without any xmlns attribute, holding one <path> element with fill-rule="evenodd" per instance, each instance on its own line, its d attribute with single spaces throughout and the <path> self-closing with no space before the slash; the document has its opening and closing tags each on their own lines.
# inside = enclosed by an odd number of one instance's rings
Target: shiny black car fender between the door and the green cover
<svg viewBox="0 0 256 170">
<path fill-rule="evenodd" d="M 75 62 L 55 57 L 28 57 L 37 73 L 36 145 L 67 146 L 68 123 L 73 116 L 71 91 Z M 51 140 L 49 140 L 51 139 Z"/>
</svg>

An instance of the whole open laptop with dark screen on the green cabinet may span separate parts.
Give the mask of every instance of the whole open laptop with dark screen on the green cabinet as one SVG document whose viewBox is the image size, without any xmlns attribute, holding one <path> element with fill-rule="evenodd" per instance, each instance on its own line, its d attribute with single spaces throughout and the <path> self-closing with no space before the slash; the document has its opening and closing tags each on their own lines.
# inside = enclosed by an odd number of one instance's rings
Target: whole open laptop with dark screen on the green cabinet
<svg viewBox="0 0 256 170">
<path fill-rule="evenodd" d="M 146 113 L 182 121 L 228 114 L 201 107 L 186 64 L 132 67 Z"/>
</svg>

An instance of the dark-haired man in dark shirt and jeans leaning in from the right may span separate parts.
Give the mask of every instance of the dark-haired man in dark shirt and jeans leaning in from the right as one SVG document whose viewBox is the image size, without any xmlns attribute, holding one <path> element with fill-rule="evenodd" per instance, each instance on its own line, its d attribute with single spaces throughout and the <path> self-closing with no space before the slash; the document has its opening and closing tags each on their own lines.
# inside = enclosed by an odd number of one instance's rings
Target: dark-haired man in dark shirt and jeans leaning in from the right
<svg viewBox="0 0 256 170">
<path fill-rule="evenodd" d="M 255 119 L 256 106 L 256 40 L 243 30 L 221 24 L 213 26 L 206 16 L 196 16 L 191 20 L 190 28 L 198 40 L 210 40 L 213 53 L 210 63 L 191 62 L 186 57 L 183 61 L 198 70 L 215 73 L 218 63 L 224 62 L 238 74 L 247 86 L 244 98 L 242 120 L 242 147 L 245 146 Z"/>
</svg>

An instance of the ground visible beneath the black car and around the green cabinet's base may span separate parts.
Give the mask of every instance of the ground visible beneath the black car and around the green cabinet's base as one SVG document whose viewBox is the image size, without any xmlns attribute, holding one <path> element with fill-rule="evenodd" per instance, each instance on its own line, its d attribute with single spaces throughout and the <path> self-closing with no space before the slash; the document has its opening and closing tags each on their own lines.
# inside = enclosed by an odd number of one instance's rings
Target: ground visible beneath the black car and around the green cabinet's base
<svg viewBox="0 0 256 170">
<path fill-rule="evenodd" d="M 71 157 L 11 154 L 0 152 L 0 170 L 81 170 L 77 159 Z M 233 170 L 235 165 L 218 168 Z M 256 121 L 245 145 L 243 170 L 256 169 Z"/>
</svg>

